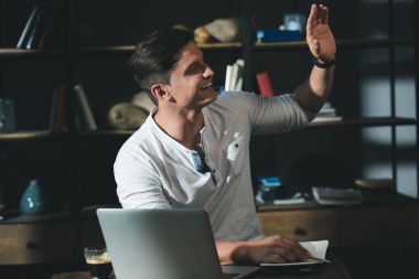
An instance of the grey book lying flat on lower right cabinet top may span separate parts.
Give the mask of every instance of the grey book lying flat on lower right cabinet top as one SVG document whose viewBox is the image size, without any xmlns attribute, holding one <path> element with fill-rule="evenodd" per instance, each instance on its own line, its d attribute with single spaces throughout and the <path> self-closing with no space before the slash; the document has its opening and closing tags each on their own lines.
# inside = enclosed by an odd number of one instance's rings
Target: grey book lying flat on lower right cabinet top
<svg viewBox="0 0 419 279">
<path fill-rule="evenodd" d="M 354 189 L 312 187 L 314 200 L 324 205 L 361 204 L 363 194 Z"/>
</svg>

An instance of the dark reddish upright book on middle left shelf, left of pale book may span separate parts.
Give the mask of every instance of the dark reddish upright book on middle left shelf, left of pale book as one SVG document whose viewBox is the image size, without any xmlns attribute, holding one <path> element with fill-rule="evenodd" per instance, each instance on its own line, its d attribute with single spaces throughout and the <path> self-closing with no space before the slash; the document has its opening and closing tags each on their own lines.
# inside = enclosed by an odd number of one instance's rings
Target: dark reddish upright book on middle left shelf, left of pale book
<svg viewBox="0 0 419 279">
<path fill-rule="evenodd" d="M 60 84 L 53 93 L 53 101 L 50 116 L 50 131 L 58 132 L 64 129 L 65 94 L 64 84 Z"/>
</svg>

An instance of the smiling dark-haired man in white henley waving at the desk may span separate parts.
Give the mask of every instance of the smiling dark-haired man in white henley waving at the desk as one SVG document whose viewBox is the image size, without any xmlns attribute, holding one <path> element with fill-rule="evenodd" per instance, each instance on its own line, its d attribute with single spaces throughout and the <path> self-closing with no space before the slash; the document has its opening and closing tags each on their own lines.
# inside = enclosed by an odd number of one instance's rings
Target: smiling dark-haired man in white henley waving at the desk
<svg viewBox="0 0 419 279">
<path fill-rule="evenodd" d="M 121 205 L 205 210 L 222 264 L 307 259 L 309 253 L 297 242 L 265 237 L 254 205 L 248 147 L 251 132 L 305 127 L 324 104 L 336 52 L 326 7 L 311 7 L 307 42 L 315 64 L 309 78 L 293 94 L 266 98 L 217 96 L 214 72 L 189 32 L 162 30 L 143 40 L 130 65 L 158 107 L 117 155 Z"/>
</svg>

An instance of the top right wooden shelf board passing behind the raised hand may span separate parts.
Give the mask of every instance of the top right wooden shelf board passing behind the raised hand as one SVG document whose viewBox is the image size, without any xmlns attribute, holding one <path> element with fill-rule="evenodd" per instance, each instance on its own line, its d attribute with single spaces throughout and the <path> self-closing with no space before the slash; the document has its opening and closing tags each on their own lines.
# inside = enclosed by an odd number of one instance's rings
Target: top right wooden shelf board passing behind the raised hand
<svg viewBox="0 0 419 279">
<path fill-rule="evenodd" d="M 356 40 L 336 40 L 337 47 L 388 47 L 390 45 L 412 44 L 413 39 L 356 39 Z M 289 50 L 305 49 L 305 41 L 276 42 L 276 43 L 255 43 L 254 51 L 265 50 Z"/>
</svg>

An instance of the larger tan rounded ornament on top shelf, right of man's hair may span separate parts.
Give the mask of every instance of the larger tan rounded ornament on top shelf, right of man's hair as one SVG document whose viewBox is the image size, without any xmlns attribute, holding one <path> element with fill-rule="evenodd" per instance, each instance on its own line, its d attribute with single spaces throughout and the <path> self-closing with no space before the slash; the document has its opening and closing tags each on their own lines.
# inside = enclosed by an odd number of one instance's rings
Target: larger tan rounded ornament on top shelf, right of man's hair
<svg viewBox="0 0 419 279">
<path fill-rule="evenodd" d="M 216 19 L 204 25 L 205 30 L 222 43 L 240 41 L 240 21 L 236 18 Z"/>
</svg>

